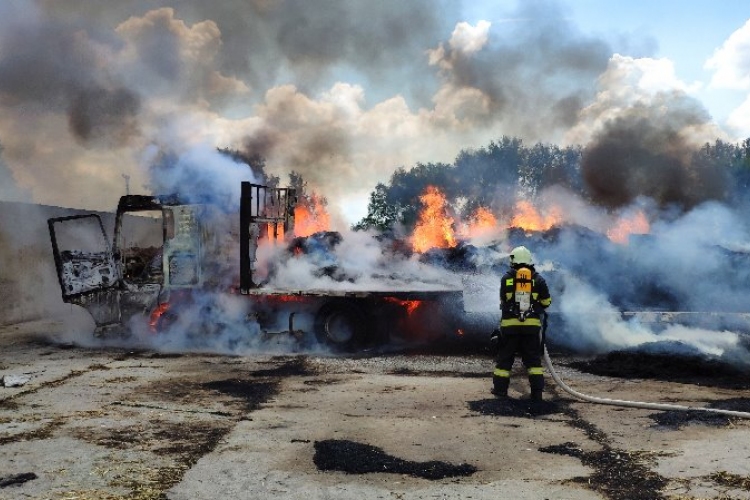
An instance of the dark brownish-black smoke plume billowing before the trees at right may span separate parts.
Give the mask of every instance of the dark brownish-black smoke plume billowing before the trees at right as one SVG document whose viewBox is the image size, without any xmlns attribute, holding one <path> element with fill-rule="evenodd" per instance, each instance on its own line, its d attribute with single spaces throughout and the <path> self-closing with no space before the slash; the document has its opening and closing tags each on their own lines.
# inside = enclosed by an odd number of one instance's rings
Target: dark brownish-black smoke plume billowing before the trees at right
<svg viewBox="0 0 750 500">
<path fill-rule="evenodd" d="M 581 171 L 594 203 L 619 208 L 648 197 L 662 207 L 689 209 L 723 199 L 725 166 L 697 160 L 698 148 L 685 136 L 708 122 L 705 110 L 685 96 L 664 97 L 666 114 L 656 105 L 636 106 L 584 149 Z"/>
</svg>

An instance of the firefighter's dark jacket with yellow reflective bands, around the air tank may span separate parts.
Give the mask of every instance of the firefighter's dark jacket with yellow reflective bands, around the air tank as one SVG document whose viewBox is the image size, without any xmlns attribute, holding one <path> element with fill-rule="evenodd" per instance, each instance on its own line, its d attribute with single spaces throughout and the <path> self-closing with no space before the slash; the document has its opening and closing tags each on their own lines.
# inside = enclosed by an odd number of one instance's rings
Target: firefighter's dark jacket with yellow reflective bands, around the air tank
<svg viewBox="0 0 750 500">
<path fill-rule="evenodd" d="M 531 270 L 531 308 L 522 316 L 515 301 L 516 268 L 511 268 L 502 277 L 500 284 L 500 328 L 507 331 L 523 331 L 524 327 L 533 327 L 534 331 L 542 326 L 541 315 L 552 303 L 547 282 L 536 272 L 534 266 L 523 266 Z M 523 318 L 523 319 L 522 319 Z"/>
</svg>

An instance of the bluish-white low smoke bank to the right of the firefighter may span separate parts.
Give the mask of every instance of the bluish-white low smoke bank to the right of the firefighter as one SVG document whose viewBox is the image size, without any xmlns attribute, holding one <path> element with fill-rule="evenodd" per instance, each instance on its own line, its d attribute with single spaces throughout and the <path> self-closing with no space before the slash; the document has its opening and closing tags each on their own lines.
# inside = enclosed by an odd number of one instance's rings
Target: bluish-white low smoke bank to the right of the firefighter
<svg viewBox="0 0 750 500">
<path fill-rule="evenodd" d="M 710 201 L 675 214 L 639 200 L 623 210 L 647 211 L 650 232 L 616 243 L 603 234 L 613 214 L 573 196 L 568 210 L 552 195 L 566 222 L 511 233 L 501 247 L 534 252 L 552 289 L 553 343 L 597 353 L 661 346 L 750 366 L 750 227 L 740 212 Z"/>
</svg>

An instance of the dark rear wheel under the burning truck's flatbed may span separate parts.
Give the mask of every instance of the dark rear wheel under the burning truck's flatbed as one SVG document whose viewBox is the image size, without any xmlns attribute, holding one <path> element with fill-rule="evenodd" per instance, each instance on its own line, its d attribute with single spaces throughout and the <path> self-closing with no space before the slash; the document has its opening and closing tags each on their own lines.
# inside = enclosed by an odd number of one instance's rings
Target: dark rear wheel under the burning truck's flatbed
<svg viewBox="0 0 750 500">
<path fill-rule="evenodd" d="M 365 315 L 354 304 L 333 302 L 325 304 L 315 316 L 315 336 L 318 342 L 342 351 L 354 350 L 367 341 Z"/>
</svg>

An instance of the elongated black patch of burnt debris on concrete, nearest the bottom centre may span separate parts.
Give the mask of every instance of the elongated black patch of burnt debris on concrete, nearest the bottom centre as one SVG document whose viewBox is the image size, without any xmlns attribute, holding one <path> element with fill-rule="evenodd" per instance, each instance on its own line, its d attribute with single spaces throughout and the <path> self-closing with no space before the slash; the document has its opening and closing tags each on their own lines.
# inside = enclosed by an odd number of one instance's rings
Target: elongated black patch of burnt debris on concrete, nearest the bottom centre
<svg viewBox="0 0 750 500">
<path fill-rule="evenodd" d="M 347 474 L 385 472 L 406 474 L 423 479 L 437 480 L 446 477 L 470 476 L 477 468 L 470 464 L 450 464 L 432 460 L 413 462 L 393 457 L 382 449 L 344 439 L 315 442 L 313 462 L 323 471 L 340 471 Z"/>
</svg>

